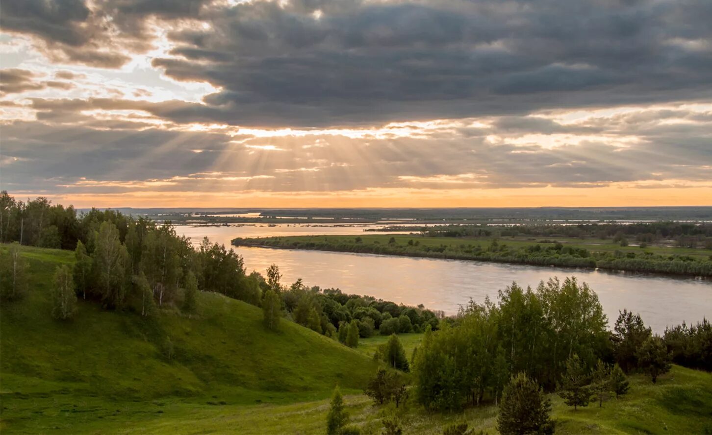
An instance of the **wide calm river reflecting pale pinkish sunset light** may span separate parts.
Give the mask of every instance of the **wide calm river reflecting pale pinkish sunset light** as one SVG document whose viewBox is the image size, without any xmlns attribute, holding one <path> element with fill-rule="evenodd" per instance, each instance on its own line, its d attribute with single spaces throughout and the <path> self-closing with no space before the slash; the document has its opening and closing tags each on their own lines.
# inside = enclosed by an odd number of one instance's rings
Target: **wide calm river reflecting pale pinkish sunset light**
<svg viewBox="0 0 712 435">
<path fill-rule="evenodd" d="M 362 234 L 364 227 L 176 227 L 179 234 L 199 242 L 206 236 L 226 247 L 234 237 L 268 235 Z M 390 257 L 385 255 L 319 252 L 290 249 L 234 247 L 248 272 L 265 273 L 277 264 L 283 282 L 302 278 L 305 284 L 335 287 L 347 293 L 371 295 L 407 305 L 455 313 L 469 299 L 496 300 L 497 291 L 516 281 L 537 286 L 552 276 L 576 276 L 598 294 L 612 326 L 618 311 L 640 313 L 657 333 L 666 326 L 712 318 L 712 281 L 624 272 L 602 272 L 555 267 L 533 267 L 462 260 Z"/>
</svg>

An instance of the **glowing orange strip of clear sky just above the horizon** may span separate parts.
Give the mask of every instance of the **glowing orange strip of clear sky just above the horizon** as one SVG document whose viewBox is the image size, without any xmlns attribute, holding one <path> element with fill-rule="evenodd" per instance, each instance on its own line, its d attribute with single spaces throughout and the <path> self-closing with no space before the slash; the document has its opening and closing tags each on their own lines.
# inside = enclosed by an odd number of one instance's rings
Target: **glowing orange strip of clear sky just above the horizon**
<svg viewBox="0 0 712 435">
<path fill-rule="evenodd" d="M 12 194 L 12 193 L 11 193 Z M 23 195 L 16 195 L 18 199 Z M 467 208 L 712 205 L 712 187 L 365 189 L 342 192 L 133 192 L 47 195 L 75 208 Z"/>
</svg>

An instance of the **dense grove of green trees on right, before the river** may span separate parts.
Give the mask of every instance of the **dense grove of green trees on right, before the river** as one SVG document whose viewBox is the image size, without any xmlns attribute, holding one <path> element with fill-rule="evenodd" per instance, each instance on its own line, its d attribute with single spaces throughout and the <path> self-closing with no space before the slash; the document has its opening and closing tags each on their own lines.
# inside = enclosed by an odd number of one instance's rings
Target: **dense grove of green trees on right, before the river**
<svg viewBox="0 0 712 435">
<path fill-rule="evenodd" d="M 499 292 L 496 304 L 471 302 L 441 331 L 426 332 L 414 355 L 417 398 L 429 408 L 457 410 L 496 399 L 518 373 L 548 391 L 577 388 L 585 399 L 578 404 L 585 406 L 597 365 L 606 372 L 614 364 L 624 372 L 642 370 L 653 381 L 671 361 L 712 370 L 712 325 L 703 320 L 659 337 L 624 310 L 608 331 L 594 291 L 573 278 L 552 279 L 535 290 L 513 284 Z M 580 385 L 567 385 L 574 375 Z"/>
</svg>

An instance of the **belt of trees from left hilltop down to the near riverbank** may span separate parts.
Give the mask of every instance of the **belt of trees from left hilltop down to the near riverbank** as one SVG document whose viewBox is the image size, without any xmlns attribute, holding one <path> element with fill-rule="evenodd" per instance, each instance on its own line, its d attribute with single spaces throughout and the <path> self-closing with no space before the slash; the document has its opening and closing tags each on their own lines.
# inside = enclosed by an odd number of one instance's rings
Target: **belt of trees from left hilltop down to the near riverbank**
<svg viewBox="0 0 712 435">
<path fill-rule="evenodd" d="M 214 291 L 261 306 L 271 289 L 280 296 L 283 316 L 337 338 L 337 328 L 354 324 L 358 335 L 422 332 L 437 329 L 443 313 L 409 307 L 370 296 L 343 294 L 339 289 L 308 288 L 301 280 L 281 284 L 276 265 L 267 276 L 247 274 L 242 257 L 207 238 L 198 247 L 177 235 L 169 223 L 134 218 L 115 210 L 76 213 L 72 206 L 52 205 L 46 198 L 23 203 L 6 192 L 0 199 L 1 242 L 15 242 L 3 251 L 0 296 L 19 299 L 26 290 L 19 242 L 37 247 L 73 249 L 71 287 L 82 299 L 105 308 L 128 309 L 151 316 L 156 306 L 177 306 L 195 313 L 196 291 Z M 64 290 L 63 290 L 64 291 Z M 66 303 L 66 294 L 58 299 Z M 63 310 L 68 317 L 70 312 Z"/>
</svg>

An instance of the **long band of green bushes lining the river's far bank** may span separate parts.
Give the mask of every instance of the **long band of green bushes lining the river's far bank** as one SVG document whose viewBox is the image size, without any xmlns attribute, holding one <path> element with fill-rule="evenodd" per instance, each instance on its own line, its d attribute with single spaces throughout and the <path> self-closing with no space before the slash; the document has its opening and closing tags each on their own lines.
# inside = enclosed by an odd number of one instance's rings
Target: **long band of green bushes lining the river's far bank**
<svg viewBox="0 0 712 435">
<path fill-rule="evenodd" d="M 524 247 L 507 245 L 492 240 L 486 247 L 463 242 L 460 245 L 425 245 L 417 238 L 407 244 L 394 238 L 387 244 L 364 243 L 361 237 L 353 242 L 300 241 L 289 237 L 264 237 L 259 239 L 235 239 L 233 245 L 283 247 L 287 249 L 315 249 L 320 251 L 359 252 L 364 254 L 402 255 L 442 259 L 466 259 L 485 262 L 531 264 L 534 266 L 600 268 L 627 272 L 646 272 L 686 276 L 712 276 L 712 259 L 700 259 L 687 255 L 659 255 L 652 252 L 590 252 L 585 248 L 561 243 L 532 244 Z"/>
</svg>

